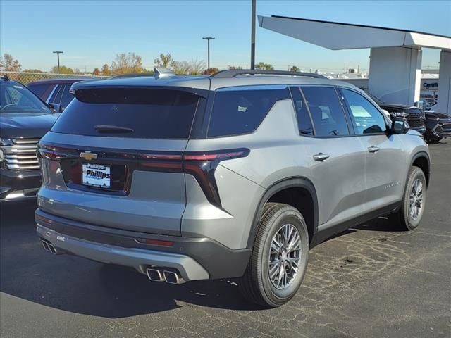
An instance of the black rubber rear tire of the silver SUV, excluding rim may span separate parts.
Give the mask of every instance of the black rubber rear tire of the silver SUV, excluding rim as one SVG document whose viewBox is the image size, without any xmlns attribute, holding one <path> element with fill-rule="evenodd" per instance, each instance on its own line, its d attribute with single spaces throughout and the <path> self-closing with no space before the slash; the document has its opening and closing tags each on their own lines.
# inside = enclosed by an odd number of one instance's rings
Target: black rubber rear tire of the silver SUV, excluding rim
<svg viewBox="0 0 451 338">
<path fill-rule="evenodd" d="M 293 225 L 300 237 L 299 268 L 287 287 L 278 289 L 269 276 L 269 253 L 273 237 L 287 224 Z M 259 222 L 249 265 L 239 282 L 242 295 L 265 307 L 275 308 L 287 303 L 302 284 L 308 258 L 309 232 L 301 213 L 287 204 L 266 205 Z"/>
</svg>

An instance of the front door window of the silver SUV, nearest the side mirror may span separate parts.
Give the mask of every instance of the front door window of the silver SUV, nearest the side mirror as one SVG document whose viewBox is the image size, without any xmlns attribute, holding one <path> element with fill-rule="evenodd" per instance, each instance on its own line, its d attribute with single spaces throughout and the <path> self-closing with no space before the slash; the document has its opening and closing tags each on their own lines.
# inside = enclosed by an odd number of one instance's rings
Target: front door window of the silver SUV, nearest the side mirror
<svg viewBox="0 0 451 338">
<path fill-rule="evenodd" d="M 357 92 L 341 89 L 347 108 L 351 113 L 356 134 L 374 134 L 385 132 L 385 119 L 381 112 Z"/>
</svg>

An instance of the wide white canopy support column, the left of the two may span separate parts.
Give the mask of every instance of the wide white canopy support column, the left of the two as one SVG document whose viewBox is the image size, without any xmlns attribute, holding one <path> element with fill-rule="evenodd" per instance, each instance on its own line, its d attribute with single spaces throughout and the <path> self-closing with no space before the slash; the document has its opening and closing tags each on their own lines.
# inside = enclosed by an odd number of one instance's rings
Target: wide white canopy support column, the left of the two
<svg viewBox="0 0 451 338">
<path fill-rule="evenodd" d="M 390 104 L 414 104 L 420 99 L 421 49 L 416 47 L 371 48 L 370 94 Z"/>
</svg>

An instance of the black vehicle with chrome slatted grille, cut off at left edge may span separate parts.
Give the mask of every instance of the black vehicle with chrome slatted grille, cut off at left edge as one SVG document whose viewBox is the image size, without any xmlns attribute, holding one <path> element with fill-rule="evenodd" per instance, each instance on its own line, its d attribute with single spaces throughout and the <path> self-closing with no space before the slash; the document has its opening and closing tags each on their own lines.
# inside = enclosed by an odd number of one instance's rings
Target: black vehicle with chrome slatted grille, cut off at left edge
<svg viewBox="0 0 451 338">
<path fill-rule="evenodd" d="M 23 84 L 0 78 L 0 201 L 35 198 L 41 186 L 37 142 L 58 115 Z"/>
</svg>

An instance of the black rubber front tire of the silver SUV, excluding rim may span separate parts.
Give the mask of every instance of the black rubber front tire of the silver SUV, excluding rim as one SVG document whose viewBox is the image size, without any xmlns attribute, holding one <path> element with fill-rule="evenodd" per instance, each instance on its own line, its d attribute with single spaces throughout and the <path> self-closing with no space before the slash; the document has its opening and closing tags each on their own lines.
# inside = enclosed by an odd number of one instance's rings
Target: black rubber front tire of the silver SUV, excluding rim
<svg viewBox="0 0 451 338">
<path fill-rule="evenodd" d="M 414 182 L 419 180 L 422 184 L 422 203 L 421 211 L 413 218 L 411 215 L 410 199 L 411 192 L 413 189 Z M 402 199 L 402 204 L 400 210 L 397 213 L 388 215 L 390 222 L 401 230 L 414 230 L 421 223 L 421 218 L 424 214 L 424 208 L 426 207 L 426 177 L 424 176 L 423 170 L 418 167 L 412 167 L 409 170 L 409 175 L 407 176 L 407 184 L 404 188 L 404 197 Z"/>
</svg>

